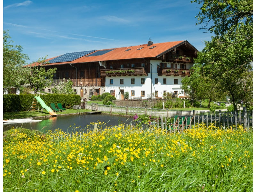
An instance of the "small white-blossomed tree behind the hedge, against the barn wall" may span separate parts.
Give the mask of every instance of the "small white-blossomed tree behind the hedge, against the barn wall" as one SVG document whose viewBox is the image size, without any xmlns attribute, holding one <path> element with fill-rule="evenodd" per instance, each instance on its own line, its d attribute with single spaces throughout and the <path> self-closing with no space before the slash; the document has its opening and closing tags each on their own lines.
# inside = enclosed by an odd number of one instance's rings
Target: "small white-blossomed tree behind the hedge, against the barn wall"
<svg viewBox="0 0 256 192">
<path fill-rule="evenodd" d="M 54 88 L 52 89 L 52 93 L 57 94 L 76 94 L 72 89 L 73 82 L 71 80 L 63 80 L 59 79 L 59 82 Z"/>
</svg>

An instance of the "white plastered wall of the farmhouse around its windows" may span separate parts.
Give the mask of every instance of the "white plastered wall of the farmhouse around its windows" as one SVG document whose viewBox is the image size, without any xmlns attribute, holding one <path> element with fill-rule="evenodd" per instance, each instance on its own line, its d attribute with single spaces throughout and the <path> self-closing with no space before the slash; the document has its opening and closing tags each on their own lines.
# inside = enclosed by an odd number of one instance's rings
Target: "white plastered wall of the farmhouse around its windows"
<svg viewBox="0 0 256 192">
<path fill-rule="evenodd" d="M 148 76 L 106 76 L 106 92 L 115 90 L 116 99 L 121 99 L 120 90 L 129 92 L 129 98 L 131 98 L 131 91 L 134 91 L 134 97 L 141 97 L 142 99 L 148 99 L 148 95 L 158 91 L 158 97 L 163 97 L 164 91 L 174 92 L 178 91 L 178 96 L 183 96 L 182 90 L 180 88 L 182 76 L 158 76 L 157 75 L 157 65 L 162 62 L 162 60 L 151 60 L 152 64 L 152 82 L 151 82 L 151 73 L 148 73 Z M 193 64 L 188 64 L 187 69 L 193 66 Z M 170 67 L 171 64 L 167 63 L 167 67 Z M 180 64 L 177 66 L 180 68 Z M 151 68 L 151 66 L 150 66 Z M 131 84 L 131 79 L 134 78 L 135 84 Z M 145 78 L 145 83 L 141 84 L 141 78 Z M 158 79 L 158 83 L 155 84 L 155 78 Z M 164 78 L 166 78 L 166 84 L 163 84 Z M 113 84 L 110 84 L 110 79 L 113 79 Z M 120 79 L 124 79 L 124 84 L 120 84 Z M 174 84 L 174 79 L 178 79 L 178 84 Z M 141 91 L 145 91 L 145 96 L 141 96 Z"/>
</svg>

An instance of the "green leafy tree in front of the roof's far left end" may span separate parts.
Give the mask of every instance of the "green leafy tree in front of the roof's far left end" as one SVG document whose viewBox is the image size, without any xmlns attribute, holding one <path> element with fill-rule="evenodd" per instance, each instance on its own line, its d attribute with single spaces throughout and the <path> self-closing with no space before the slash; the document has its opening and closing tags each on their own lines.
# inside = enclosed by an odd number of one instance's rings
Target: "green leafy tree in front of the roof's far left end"
<svg viewBox="0 0 256 192">
<path fill-rule="evenodd" d="M 24 70 L 26 70 L 26 79 L 30 84 L 30 88 L 34 90 L 34 93 L 37 93 L 39 89 L 44 89 L 47 86 L 50 86 L 53 82 L 52 78 L 54 73 L 56 73 L 56 68 L 50 68 L 47 71 L 41 65 L 47 64 L 45 61 L 46 57 L 37 60 L 38 65 L 32 66 L 29 65 Z"/>
</svg>

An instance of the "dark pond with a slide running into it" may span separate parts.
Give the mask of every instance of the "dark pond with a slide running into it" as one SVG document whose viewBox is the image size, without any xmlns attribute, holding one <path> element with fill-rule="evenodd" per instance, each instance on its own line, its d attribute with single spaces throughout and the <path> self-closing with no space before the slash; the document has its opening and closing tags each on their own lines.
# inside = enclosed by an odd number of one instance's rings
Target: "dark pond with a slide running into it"
<svg viewBox="0 0 256 192">
<path fill-rule="evenodd" d="M 102 127 L 115 126 L 120 124 L 130 124 L 133 120 L 132 117 L 107 115 L 107 114 L 70 114 L 55 117 L 37 117 L 34 119 L 42 120 L 40 122 L 18 123 L 18 124 L 4 124 L 4 131 L 12 128 L 23 127 L 25 129 L 33 129 L 41 132 L 56 129 L 61 129 L 63 132 L 86 132 L 90 123 L 104 122 L 106 125 Z M 78 128 L 76 128 L 78 127 Z M 76 128 L 76 129 L 74 129 Z M 89 126 L 93 129 L 93 125 Z"/>
</svg>

